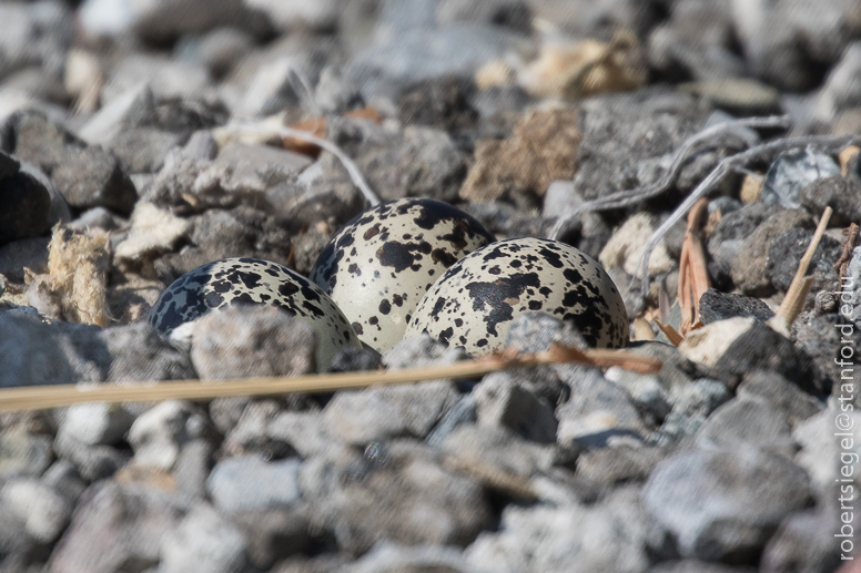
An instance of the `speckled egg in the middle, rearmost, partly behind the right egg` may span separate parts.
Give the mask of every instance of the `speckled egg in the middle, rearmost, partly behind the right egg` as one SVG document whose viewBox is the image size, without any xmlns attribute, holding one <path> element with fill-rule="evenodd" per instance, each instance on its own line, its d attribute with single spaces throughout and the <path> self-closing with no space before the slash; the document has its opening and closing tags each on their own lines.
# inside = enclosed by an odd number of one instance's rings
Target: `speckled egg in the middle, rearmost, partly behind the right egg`
<svg viewBox="0 0 861 573">
<path fill-rule="evenodd" d="M 494 241 L 446 203 L 383 203 L 347 223 L 310 278 L 332 295 L 363 342 L 385 352 L 404 336 L 418 300 L 445 270 Z"/>
</svg>

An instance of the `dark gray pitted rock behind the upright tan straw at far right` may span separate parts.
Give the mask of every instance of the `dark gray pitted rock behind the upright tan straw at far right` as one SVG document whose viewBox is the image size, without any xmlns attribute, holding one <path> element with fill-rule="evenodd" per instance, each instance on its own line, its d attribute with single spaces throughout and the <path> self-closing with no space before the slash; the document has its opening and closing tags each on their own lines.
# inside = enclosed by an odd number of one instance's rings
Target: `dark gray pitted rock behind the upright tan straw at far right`
<svg viewBox="0 0 861 573">
<path fill-rule="evenodd" d="M 804 256 L 810 241 L 813 238 L 813 231 L 804 228 L 793 228 L 774 237 L 768 249 L 766 258 L 766 278 L 771 285 L 780 290 L 787 291 L 789 285 L 796 276 L 798 264 Z M 828 235 L 822 236 L 819 246 L 813 252 L 813 258 L 810 260 L 809 273 L 813 276 L 813 283 L 810 290 L 816 293 L 823 288 L 831 287 L 838 279 L 834 270 L 834 263 L 840 258 L 841 244 Z"/>
</svg>

